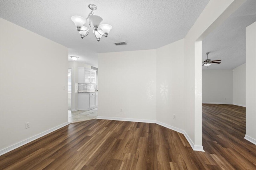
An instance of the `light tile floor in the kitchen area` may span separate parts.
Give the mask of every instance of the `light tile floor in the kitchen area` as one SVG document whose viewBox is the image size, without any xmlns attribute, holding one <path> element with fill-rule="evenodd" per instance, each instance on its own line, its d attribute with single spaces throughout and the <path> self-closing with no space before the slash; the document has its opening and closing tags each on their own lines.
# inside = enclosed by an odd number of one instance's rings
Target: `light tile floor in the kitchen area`
<svg viewBox="0 0 256 170">
<path fill-rule="evenodd" d="M 90 119 L 96 119 L 98 115 L 98 107 L 92 110 L 84 111 L 70 111 L 68 110 L 68 122 L 74 123 L 79 121 L 86 121 Z"/>
</svg>

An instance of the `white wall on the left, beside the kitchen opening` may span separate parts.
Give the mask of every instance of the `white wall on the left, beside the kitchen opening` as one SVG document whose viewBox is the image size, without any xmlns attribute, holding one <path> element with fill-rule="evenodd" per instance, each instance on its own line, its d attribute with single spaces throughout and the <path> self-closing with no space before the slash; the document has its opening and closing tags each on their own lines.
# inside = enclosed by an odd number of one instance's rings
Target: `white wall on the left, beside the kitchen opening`
<svg viewBox="0 0 256 170">
<path fill-rule="evenodd" d="M 68 49 L 2 18 L 0 46 L 2 151 L 67 124 Z"/>
</svg>

